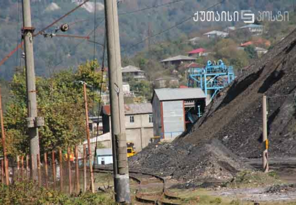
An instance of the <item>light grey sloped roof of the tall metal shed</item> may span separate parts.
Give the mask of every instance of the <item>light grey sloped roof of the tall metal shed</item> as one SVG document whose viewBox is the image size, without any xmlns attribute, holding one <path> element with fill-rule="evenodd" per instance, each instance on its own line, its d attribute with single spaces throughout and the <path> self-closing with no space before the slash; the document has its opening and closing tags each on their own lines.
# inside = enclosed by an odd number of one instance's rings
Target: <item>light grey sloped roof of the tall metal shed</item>
<svg viewBox="0 0 296 205">
<path fill-rule="evenodd" d="M 160 101 L 206 98 L 201 88 L 163 88 L 155 89 L 154 92 Z"/>
</svg>

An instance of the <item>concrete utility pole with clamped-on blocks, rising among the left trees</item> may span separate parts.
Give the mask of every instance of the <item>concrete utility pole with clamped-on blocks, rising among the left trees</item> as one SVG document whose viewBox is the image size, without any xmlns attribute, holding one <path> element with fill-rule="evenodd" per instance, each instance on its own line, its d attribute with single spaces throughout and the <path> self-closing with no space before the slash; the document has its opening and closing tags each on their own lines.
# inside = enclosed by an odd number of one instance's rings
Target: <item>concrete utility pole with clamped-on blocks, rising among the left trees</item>
<svg viewBox="0 0 296 205">
<path fill-rule="evenodd" d="M 34 52 L 33 52 L 33 32 L 31 20 L 30 0 L 22 0 L 23 2 L 23 39 L 25 41 L 25 60 L 26 60 L 26 80 L 27 80 L 27 106 L 28 117 L 27 126 L 29 128 L 30 152 L 31 155 L 40 156 L 38 127 L 43 125 L 43 118 L 37 116 L 37 99 L 35 85 L 35 68 L 34 68 Z M 33 179 L 36 178 L 37 160 L 31 161 L 34 167 L 32 171 Z"/>
</svg>

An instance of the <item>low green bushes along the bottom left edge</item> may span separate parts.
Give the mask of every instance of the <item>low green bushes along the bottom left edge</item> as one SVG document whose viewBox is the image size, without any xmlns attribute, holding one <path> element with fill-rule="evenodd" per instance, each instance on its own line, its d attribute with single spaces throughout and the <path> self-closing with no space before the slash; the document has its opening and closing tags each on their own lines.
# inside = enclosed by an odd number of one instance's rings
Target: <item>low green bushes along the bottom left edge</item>
<svg viewBox="0 0 296 205">
<path fill-rule="evenodd" d="M 26 204 L 26 205 L 84 205 L 84 204 L 115 204 L 111 194 L 85 193 L 79 196 L 69 196 L 59 191 L 38 188 L 32 181 L 16 182 L 6 186 L 0 184 L 0 204 Z"/>
</svg>

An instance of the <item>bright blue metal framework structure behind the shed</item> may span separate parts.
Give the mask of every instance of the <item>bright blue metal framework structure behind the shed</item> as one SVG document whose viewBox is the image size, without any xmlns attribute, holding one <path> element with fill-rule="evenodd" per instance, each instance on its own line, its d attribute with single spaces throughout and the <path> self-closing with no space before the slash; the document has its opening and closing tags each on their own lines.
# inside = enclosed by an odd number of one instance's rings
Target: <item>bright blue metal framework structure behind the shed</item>
<svg viewBox="0 0 296 205">
<path fill-rule="evenodd" d="M 232 66 L 226 66 L 222 60 L 218 60 L 217 64 L 208 60 L 203 68 L 189 68 L 188 87 L 200 87 L 206 95 L 210 94 L 212 100 L 219 90 L 230 84 L 234 78 Z"/>
</svg>

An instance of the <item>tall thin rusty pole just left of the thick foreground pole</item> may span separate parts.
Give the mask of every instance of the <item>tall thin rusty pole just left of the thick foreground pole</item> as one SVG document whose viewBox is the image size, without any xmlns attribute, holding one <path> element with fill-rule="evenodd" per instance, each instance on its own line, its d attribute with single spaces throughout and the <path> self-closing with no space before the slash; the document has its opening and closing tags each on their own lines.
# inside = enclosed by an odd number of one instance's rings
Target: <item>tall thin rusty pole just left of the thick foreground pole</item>
<svg viewBox="0 0 296 205">
<path fill-rule="evenodd" d="M 88 108 L 87 108 L 86 83 L 85 82 L 83 82 L 83 96 L 84 96 L 84 103 L 85 103 L 85 122 L 86 122 L 88 158 L 89 158 L 90 185 L 91 185 L 91 192 L 94 193 L 94 178 L 93 178 L 92 158 L 91 158 L 92 152 L 91 152 L 90 137 L 89 137 Z"/>
</svg>

